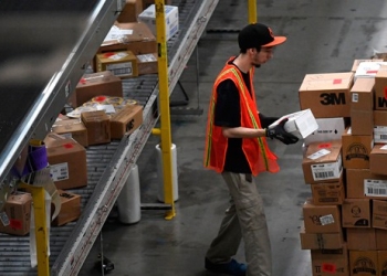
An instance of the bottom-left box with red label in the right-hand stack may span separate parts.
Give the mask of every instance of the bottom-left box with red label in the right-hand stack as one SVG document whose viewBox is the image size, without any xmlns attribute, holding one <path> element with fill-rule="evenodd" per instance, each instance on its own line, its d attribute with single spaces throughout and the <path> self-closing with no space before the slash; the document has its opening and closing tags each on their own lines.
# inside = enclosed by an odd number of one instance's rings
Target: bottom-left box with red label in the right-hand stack
<svg viewBox="0 0 387 276">
<path fill-rule="evenodd" d="M 348 276 L 348 250 L 344 243 L 339 250 L 312 250 L 313 276 Z"/>
</svg>

